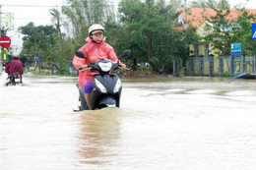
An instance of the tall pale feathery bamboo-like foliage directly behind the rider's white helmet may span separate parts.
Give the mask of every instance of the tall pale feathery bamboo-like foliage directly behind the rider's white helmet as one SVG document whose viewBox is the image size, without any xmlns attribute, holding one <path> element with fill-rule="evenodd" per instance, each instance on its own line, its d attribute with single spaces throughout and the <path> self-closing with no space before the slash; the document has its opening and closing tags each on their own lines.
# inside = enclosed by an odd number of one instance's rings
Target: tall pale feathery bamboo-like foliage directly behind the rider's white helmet
<svg viewBox="0 0 256 170">
<path fill-rule="evenodd" d="M 63 26 L 71 30 L 71 36 L 79 43 L 84 42 L 88 28 L 93 24 L 103 25 L 109 19 L 115 21 L 112 6 L 105 0 L 68 0 L 67 4 L 62 8 L 67 19 Z"/>
</svg>

